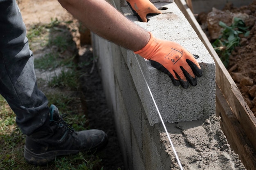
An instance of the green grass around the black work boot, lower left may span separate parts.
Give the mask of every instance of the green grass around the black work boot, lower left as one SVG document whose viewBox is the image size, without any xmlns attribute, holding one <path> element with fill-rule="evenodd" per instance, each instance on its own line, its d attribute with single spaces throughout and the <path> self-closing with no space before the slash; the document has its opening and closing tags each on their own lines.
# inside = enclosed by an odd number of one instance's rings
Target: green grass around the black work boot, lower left
<svg viewBox="0 0 256 170">
<path fill-rule="evenodd" d="M 61 96 L 61 95 L 59 95 Z M 57 97 L 57 95 L 55 96 Z M 54 98 L 50 97 L 54 101 Z M 74 98 L 60 97 L 54 104 L 64 105 L 70 103 Z M 69 109 L 68 107 L 64 108 Z M 32 166 L 28 164 L 23 157 L 23 146 L 25 145 L 25 135 L 22 135 L 20 129 L 16 126 L 16 115 L 9 108 L 9 105 L 0 96 L 0 170 L 103 170 L 100 166 L 101 160 L 96 154 L 80 152 L 78 155 L 66 157 L 57 157 L 55 161 L 46 166 Z M 63 110 L 63 109 L 62 109 Z M 75 111 L 75 110 L 71 110 Z M 75 130 L 85 129 L 85 115 L 75 115 L 67 112 L 67 123 L 75 124 Z"/>
</svg>

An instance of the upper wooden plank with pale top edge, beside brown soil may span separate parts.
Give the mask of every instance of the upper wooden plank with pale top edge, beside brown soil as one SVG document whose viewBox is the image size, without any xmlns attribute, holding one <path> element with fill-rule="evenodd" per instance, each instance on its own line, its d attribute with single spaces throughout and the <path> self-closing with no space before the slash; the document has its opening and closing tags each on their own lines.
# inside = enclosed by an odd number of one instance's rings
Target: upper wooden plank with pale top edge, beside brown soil
<svg viewBox="0 0 256 170">
<path fill-rule="evenodd" d="M 184 0 L 174 1 L 213 57 L 216 63 L 216 84 L 220 87 L 223 95 L 227 99 L 230 108 L 236 116 L 236 119 L 240 122 L 243 130 L 245 131 L 245 134 L 247 135 L 249 141 L 252 143 L 254 150 L 256 150 L 256 117 L 252 113 L 252 110 L 249 109 L 234 80 L 229 75 L 225 66 L 222 64 L 218 54 L 213 49 L 204 31 L 202 31 L 193 13 L 189 7 L 186 6 L 186 2 Z"/>
</svg>

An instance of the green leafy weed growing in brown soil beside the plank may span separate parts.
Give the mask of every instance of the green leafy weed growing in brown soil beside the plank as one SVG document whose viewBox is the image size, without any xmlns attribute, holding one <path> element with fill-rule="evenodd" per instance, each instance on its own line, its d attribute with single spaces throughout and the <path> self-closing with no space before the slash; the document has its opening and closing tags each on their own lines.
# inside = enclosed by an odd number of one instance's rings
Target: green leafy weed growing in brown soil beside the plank
<svg viewBox="0 0 256 170">
<path fill-rule="evenodd" d="M 247 31 L 248 27 L 245 26 L 245 22 L 240 18 L 234 18 L 234 22 L 231 26 L 227 26 L 221 21 L 219 22 L 219 25 L 224 29 L 222 30 L 222 35 L 212 43 L 212 46 L 227 68 L 231 52 L 236 46 L 239 46 L 241 39 L 239 34 L 244 34 L 244 36 L 247 37 L 250 32 Z"/>
</svg>

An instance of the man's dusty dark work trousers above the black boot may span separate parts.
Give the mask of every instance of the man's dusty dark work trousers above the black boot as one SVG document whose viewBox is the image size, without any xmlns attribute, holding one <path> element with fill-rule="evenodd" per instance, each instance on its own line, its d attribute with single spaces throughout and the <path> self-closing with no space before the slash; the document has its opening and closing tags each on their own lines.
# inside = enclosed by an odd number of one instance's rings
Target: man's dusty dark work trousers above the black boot
<svg viewBox="0 0 256 170">
<path fill-rule="evenodd" d="M 0 94 L 26 135 L 49 119 L 48 101 L 37 88 L 33 60 L 16 0 L 0 0 Z"/>
</svg>

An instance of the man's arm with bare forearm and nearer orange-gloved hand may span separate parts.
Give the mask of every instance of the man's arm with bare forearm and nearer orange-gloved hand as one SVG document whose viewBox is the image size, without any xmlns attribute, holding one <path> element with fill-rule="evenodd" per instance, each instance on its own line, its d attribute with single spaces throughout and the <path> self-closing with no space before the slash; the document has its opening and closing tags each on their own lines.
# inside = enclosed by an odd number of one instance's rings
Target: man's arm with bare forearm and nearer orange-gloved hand
<svg viewBox="0 0 256 170">
<path fill-rule="evenodd" d="M 97 35 L 139 54 L 171 77 L 173 84 L 196 86 L 201 68 L 180 44 L 155 38 L 128 20 L 105 0 L 58 0 L 75 18 Z"/>
</svg>

